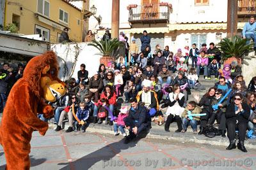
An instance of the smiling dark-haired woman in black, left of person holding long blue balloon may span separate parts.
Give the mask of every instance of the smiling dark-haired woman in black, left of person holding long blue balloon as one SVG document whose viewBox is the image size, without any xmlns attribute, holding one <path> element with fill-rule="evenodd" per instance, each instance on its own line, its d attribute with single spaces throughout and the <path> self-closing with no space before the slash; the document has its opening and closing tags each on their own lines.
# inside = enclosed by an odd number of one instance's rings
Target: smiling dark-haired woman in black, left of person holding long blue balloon
<svg viewBox="0 0 256 170">
<path fill-rule="evenodd" d="M 199 96 L 194 96 L 196 99 L 196 103 L 198 106 L 202 107 L 204 106 L 202 113 L 206 113 L 205 116 L 200 117 L 200 131 L 198 134 L 204 134 L 205 132 L 205 127 L 207 125 L 207 122 L 209 118 L 211 117 L 211 100 L 215 96 L 216 89 L 214 87 L 211 87 L 208 92 L 200 99 L 199 101 Z"/>
</svg>

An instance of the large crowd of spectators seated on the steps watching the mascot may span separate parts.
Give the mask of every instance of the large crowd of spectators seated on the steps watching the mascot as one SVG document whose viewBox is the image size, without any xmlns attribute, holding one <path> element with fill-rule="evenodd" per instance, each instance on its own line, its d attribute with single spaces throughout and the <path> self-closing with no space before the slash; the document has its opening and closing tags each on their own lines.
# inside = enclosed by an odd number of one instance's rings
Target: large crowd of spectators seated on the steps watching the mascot
<svg viewBox="0 0 256 170">
<path fill-rule="evenodd" d="M 104 38 L 111 38 L 111 34 Z M 185 46 L 174 54 L 169 46 L 162 50 L 157 45 L 155 50 L 151 50 L 150 37 L 144 31 L 141 52 L 135 39 L 132 39 L 127 52 L 129 62 L 124 62 L 125 57 L 120 56 L 118 60 L 108 62 L 107 66 L 100 64 L 92 78 L 88 77 L 86 65 L 81 64 L 77 79 L 70 78 L 66 82 L 65 96 L 51 103 L 54 124 L 57 125 L 55 131 L 63 129 L 64 121 L 69 124 L 66 132 L 85 132 L 89 122 L 102 124 L 104 121 L 106 125 L 114 126 L 115 136 L 119 129 L 126 137 L 125 143 L 129 143 L 141 131 L 151 127 L 152 118 L 165 117 L 166 132 L 170 132 L 173 122 L 177 122 L 175 132 L 181 133 L 187 131 L 188 125 L 194 134 L 199 135 L 205 134 L 212 125 L 218 127 L 223 138 L 227 133 L 230 141 L 227 150 L 236 148 L 238 131 L 237 148 L 247 152 L 244 147 L 246 131 L 255 132 L 256 127 L 256 76 L 245 82 L 236 60 L 221 69 L 221 52 L 214 43 L 210 43 L 209 48 L 203 44 L 200 49 L 194 43 L 191 49 Z M 23 69 L 22 64 L 18 69 L 12 69 L 8 63 L 3 64 L 0 74 L 2 110 L 10 88 L 22 77 Z M 188 99 L 191 90 L 202 85 L 200 76 L 205 80 L 211 80 L 213 76 L 216 83 L 201 98 L 194 95 Z M 120 108 L 118 103 L 122 102 L 131 103 L 131 108 Z M 43 115 L 38 115 L 38 118 L 47 121 Z M 129 130 L 129 135 L 125 129 Z"/>
</svg>

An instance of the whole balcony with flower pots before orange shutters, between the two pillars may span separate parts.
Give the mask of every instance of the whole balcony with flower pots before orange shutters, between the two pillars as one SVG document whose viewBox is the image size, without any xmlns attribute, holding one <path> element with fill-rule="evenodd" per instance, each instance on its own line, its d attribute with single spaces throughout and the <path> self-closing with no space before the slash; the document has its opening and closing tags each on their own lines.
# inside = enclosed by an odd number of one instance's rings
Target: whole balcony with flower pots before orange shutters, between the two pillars
<svg viewBox="0 0 256 170">
<path fill-rule="evenodd" d="M 171 9 L 172 4 L 168 3 L 127 6 L 131 24 L 168 23 Z"/>
</svg>

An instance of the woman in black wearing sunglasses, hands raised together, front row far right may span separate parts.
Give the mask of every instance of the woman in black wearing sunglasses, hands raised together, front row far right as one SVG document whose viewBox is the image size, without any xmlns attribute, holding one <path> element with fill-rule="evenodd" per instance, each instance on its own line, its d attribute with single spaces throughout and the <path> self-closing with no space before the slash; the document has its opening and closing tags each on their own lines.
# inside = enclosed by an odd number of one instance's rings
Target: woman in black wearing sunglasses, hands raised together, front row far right
<svg viewBox="0 0 256 170">
<path fill-rule="evenodd" d="M 236 148 L 236 129 L 238 129 L 239 142 L 237 148 L 243 152 L 247 152 L 244 147 L 244 139 L 246 135 L 246 129 L 248 126 L 248 118 L 250 117 L 250 108 L 246 102 L 243 101 L 243 95 L 236 93 L 234 95 L 234 102 L 227 106 L 226 118 L 227 118 L 227 136 L 230 144 L 226 148 L 232 150 Z"/>
</svg>

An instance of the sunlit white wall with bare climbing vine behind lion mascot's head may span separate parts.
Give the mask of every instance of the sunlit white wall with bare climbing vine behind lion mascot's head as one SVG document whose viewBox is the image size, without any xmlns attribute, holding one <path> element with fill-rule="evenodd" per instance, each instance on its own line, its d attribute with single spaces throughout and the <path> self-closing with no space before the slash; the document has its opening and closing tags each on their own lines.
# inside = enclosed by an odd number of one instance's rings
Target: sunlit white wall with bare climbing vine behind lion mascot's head
<svg viewBox="0 0 256 170">
<path fill-rule="evenodd" d="M 71 73 L 72 67 L 74 66 L 74 72 L 70 75 L 77 79 L 77 71 L 80 70 L 80 65 L 85 64 L 86 70 L 89 72 L 89 76 L 92 77 L 93 73 L 99 69 L 100 55 L 97 48 L 93 46 L 88 46 L 88 43 L 78 43 L 78 47 L 81 49 L 77 57 L 77 62 L 75 61 L 76 56 L 76 44 L 53 44 L 51 45 L 51 50 L 56 52 L 58 57 L 65 60 L 68 67 L 68 74 Z M 63 71 L 64 64 L 63 61 L 59 59 L 60 63 L 60 78 L 64 80 Z"/>
</svg>

